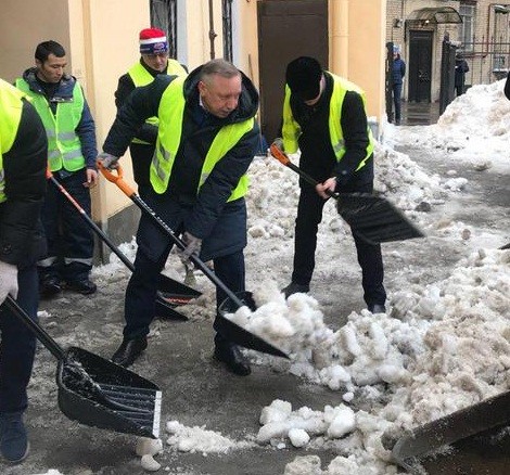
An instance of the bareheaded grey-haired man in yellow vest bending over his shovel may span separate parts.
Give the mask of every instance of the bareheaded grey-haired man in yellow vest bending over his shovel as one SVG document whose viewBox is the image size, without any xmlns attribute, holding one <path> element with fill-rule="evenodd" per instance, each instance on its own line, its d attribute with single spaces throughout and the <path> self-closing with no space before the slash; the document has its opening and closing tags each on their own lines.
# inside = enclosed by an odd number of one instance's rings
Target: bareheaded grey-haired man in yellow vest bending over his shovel
<svg viewBox="0 0 510 475">
<path fill-rule="evenodd" d="M 216 275 L 232 291 L 244 291 L 246 246 L 245 176 L 258 144 L 258 92 L 225 60 L 212 60 L 189 76 L 158 75 L 138 88 L 117 114 L 99 161 L 114 168 L 148 117 L 160 119 L 145 202 L 187 244 L 191 254 L 213 260 Z M 113 361 L 127 367 L 146 348 L 154 319 L 160 272 L 171 241 L 142 214 L 135 271 L 126 290 L 124 341 Z M 216 288 L 217 308 L 226 299 Z M 219 321 L 218 321 L 219 322 Z M 234 374 L 250 374 L 240 348 L 220 333 L 215 357 Z"/>
</svg>

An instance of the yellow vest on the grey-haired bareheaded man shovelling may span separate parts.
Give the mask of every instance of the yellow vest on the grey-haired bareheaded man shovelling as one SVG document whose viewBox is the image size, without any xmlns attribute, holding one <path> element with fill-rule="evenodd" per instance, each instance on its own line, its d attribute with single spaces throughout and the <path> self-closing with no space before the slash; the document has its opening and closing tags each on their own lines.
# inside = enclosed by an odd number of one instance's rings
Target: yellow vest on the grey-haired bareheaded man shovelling
<svg viewBox="0 0 510 475">
<path fill-rule="evenodd" d="M 151 183 L 156 193 L 164 193 L 170 180 L 171 168 L 182 134 L 182 119 L 184 115 L 186 98 L 183 93 L 184 77 L 174 79 L 163 92 L 160 102 L 160 129 L 157 133 L 156 150 L 151 164 Z M 224 126 L 216 134 L 205 156 L 199 180 L 199 190 L 213 171 L 215 165 L 253 129 L 255 119 L 252 117 L 238 124 Z M 232 191 L 229 202 L 246 194 L 248 187 L 247 176 L 243 175 Z"/>
</svg>

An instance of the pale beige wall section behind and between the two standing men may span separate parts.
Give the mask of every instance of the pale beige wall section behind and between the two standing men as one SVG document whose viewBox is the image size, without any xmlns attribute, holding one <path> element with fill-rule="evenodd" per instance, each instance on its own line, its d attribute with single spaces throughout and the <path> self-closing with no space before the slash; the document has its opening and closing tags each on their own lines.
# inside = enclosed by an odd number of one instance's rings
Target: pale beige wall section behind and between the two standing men
<svg viewBox="0 0 510 475">
<path fill-rule="evenodd" d="M 139 60 L 138 34 L 150 26 L 146 0 L 75 0 L 69 1 L 72 37 L 84 43 L 84 80 L 90 102 L 98 137 L 98 149 L 112 126 L 115 114 L 114 93 L 119 76 Z M 78 73 L 73 70 L 73 73 Z M 135 185 L 131 174 L 129 151 L 120 159 L 126 181 Z M 130 201 L 101 177 L 93 192 L 93 216 L 105 222 L 130 204 Z"/>
</svg>

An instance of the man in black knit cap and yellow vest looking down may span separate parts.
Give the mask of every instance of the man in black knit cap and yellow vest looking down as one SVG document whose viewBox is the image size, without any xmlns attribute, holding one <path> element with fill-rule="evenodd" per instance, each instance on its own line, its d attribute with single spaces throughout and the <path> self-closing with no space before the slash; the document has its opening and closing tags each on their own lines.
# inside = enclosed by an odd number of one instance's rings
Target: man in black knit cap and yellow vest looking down
<svg viewBox="0 0 510 475">
<path fill-rule="evenodd" d="M 367 124 L 365 92 L 353 82 L 323 70 L 315 57 L 301 56 L 285 72 L 282 141 L 289 153 L 301 150 L 299 167 L 320 183 L 299 180 L 294 233 L 294 268 L 285 297 L 309 292 L 315 268 L 317 231 L 326 193 L 373 191 L 374 140 Z M 373 313 L 385 312 L 380 244 L 353 232 L 362 271 L 365 301 Z"/>
</svg>

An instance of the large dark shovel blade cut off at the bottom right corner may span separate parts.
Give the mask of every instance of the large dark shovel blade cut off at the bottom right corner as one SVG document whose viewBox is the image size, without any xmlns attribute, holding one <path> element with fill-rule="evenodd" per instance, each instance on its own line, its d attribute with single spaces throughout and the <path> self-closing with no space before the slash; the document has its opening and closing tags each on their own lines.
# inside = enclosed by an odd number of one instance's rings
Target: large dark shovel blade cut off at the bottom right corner
<svg viewBox="0 0 510 475">
<path fill-rule="evenodd" d="M 473 442 L 477 447 L 485 444 L 493 446 L 492 452 L 494 454 L 494 446 L 499 445 L 499 452 L 501 452 L 499 455 L 503 455 L 508 463 L 510 461 L 508 447 L 503 448 L 502 441 L 505 434 L 507 439 L 509 438 L 509 425 L 510 391 L 506 391 L 416 427 L 399 437 L 395 444 L 395 437 L 388 437 L 383 444 L 386 449 L 392 450 L 395 463 L 411 473 L 423 473 L 423 467 L 430 461 L 430 465 L 433 467 L 441 465 L 446 468 L 446 471 L 437 473 L 502 474 L 508 472 L 486 471 L 487 459 L 489 459 L 487 457 L 483 457 L 483 471 L 467 472 L 466 468 L 473 467 L 473 457 L 470 455 L 471 461 L 464 460 L 467 458 L 462 451 Z M 492 444 L 490 439 L 493 439 Z M 501 458 L 499 457 L 499 459 Z M 501 460 L 498 463 L 500 462 Z M 462 470 L 463 464 L 466 465 Z"/>
</svg>

